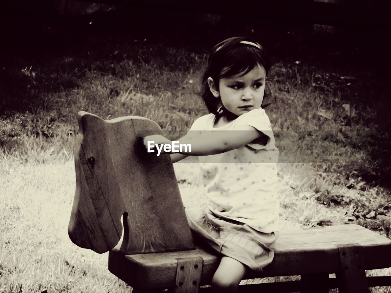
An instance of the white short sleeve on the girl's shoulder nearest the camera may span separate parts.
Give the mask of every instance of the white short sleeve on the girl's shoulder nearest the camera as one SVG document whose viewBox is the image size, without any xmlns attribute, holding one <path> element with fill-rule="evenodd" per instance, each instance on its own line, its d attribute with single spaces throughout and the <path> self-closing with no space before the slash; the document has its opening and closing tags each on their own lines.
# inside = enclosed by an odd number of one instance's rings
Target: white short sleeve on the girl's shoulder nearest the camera
<svg viewBox="0 0 391 293">
<path fill-rule="evenodd" d="M 249 125 L 262 132 L 267 136 L 261 136 L 260 138 L 252 141 L 248 144 L 249 147 L 260 150 L 270 146 L 274 143 L 273 131 L 271 130 L 271 123 L 269 117 L 262 108 L 254 109 L 248 113 L 244 113 L 237 118 L 236 126 Z"/>
</svg>

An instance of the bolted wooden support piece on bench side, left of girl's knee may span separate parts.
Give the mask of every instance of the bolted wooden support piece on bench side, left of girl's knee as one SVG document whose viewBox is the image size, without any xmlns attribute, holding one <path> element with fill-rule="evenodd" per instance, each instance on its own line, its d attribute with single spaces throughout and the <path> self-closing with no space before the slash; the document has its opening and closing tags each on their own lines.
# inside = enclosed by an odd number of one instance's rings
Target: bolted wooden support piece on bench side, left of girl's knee
<svg viewBox="0 0 391 293">
<path fill-rule="evenodd" d="M 198 293 L 204 260 L 202 257 L 176 259 L 175 293 Z"/>
</svg>

